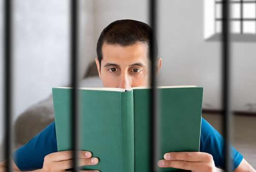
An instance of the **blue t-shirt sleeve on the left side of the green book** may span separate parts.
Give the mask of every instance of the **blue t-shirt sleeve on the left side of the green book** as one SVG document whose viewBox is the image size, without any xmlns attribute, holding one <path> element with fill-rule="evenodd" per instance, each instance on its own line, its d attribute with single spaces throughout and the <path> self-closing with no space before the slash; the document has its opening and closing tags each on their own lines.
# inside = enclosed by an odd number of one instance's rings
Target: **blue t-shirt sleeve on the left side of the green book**
<svg viewBox="0 0 256 172">
<path fill-rule="evenodd" d="M 44 157 L 57 152 L 55 122 L 32 138 L 13 154 L 13 161 L 20 170 L 35 170 L 43 167 Z"/>
</svg>

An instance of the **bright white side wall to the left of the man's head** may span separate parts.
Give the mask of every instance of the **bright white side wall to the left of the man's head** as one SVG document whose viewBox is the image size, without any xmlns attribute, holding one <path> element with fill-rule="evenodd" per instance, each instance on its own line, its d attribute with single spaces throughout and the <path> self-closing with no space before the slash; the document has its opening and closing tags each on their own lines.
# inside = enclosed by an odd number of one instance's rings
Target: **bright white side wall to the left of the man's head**
<svg viewBox="0 0 256 172">
<path fill-rule="evenodd" d="M 45 99 L 52 87 L 69 84 L 69 5 L 68 0 L 13 1 L 13 120 L 29 106 Z M 80 1 L 80 77 L 93 60 L 92 1 Z M 1 1 L 3 13 L 3 0 Z M 1 15 L 2 19 L 3 15 Z M 3 40 L 1 20 L 1 40 Z M 2 53 L 2 41 L 0 53 Z M 0 79 L 3 79 L 3 56 Z M 0 89 L 3 90 L 2 80 Z M 3 99 L 0 94 L 0 144 L 3 140 Z M 32 128 L 31 128 L 32 129 Z M 1 148 L 0 148 L 1 149 Z M 0 152 L 0 158 L 2 153 Z"/>
</svg>

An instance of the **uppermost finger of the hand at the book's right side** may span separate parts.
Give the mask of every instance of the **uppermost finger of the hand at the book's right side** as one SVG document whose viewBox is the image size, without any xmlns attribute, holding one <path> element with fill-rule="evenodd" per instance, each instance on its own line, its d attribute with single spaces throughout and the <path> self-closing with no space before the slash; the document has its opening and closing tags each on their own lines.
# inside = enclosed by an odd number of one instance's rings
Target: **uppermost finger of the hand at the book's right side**
<svg viewBox="0 0 256 172">
<path fill-rule="evenodd" d="M 210 161 L 212 160 L 211 154 L 205 152 L 169 152 L 164 155 L 166 160 L 181 160 L 181 161 Z"/>
</svg>

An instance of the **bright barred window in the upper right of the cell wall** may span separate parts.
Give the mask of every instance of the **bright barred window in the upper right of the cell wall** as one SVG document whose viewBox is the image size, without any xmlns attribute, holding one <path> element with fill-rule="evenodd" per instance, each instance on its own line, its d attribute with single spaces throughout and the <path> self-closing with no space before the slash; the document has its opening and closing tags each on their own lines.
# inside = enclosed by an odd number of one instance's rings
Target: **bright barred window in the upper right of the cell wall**
<svg viewBox="0 0 256 172">
<path fill-rule="evenodd" d="M 222 32 L 222 0 L 204 1 L 204 38 L 219 40 Z M 256 0 L 230 0 L 233 40 L 256 41 Z"/>
</svg>

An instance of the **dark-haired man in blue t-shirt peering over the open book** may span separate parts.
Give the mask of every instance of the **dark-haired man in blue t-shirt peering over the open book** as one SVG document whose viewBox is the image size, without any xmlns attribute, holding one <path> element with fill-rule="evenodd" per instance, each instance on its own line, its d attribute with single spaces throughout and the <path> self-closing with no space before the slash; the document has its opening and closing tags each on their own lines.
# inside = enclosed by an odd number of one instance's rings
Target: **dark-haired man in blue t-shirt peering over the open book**
<svg viewBox="0 0 256 172">
<path fill-rule="evenodd" d="M 95 62 L 104 87 L 125 88 L 150 85 L 150 59 L 148 57 L 151 28 L 135 20 L 118 20 L 101 33 Z M 162 66 L 157 58 L 156 73 Z M 167 152 L 159 167 L 175 167 L 200 171 L 223 168 L 223 138 L 202 118 L 200 152 Z M 92 152 L 93 153 L 93 152 Z M 14 153 L 14 170 L 65 171 L 72 168 L 72 151 L 57 152 L 55 123 L 51 123 L 25 146 Z M 80 165 L 97 164 L 99 159 L 89 151 L 80 151 Z M 243 156 L 232 147 L 235 171 L 255 171 Z M 5 168 L 1 163 L 0 171 Z M 91 170 L 90 170 L 91 171 Z M 95 170 L 94 170 L 95 171 Z M 97 170 L 96 170 L 97 171 Z"/>
</svg>

